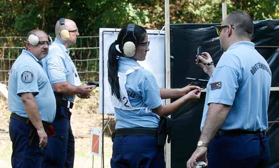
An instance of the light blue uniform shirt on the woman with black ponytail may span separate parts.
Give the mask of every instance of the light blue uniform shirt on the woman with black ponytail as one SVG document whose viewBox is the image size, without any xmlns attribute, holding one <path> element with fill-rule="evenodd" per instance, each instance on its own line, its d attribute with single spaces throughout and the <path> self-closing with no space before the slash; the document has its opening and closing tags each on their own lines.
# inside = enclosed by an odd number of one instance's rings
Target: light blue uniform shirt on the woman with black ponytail
<svg viewBox="0 0 279 168">
<path fill-rule="evenodd" d="M 141 67 L 130 58 L 119 57 L 118 71 L 125 73 L 133 67 Z M 139 68 L 127 76 L 125 86 L 132 107 L 157 108 L 161 105 L 160 89 L 155 77 L 144 68 Z M 157 128 L 160 118 L 153 112 L 147 113 L 145 109 L 122 110 L 115 109 L 115 128 L 149 127 Z"/>
</svg>

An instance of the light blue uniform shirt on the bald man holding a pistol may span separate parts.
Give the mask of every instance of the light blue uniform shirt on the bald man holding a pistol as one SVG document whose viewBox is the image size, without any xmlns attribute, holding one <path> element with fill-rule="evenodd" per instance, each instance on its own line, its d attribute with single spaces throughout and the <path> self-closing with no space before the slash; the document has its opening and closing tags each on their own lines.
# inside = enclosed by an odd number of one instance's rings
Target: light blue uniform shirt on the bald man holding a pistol
<svg viewBox="0 0 279 168">
<path fill-rule="evenodd" d="M 68 82 L 74 85 L 74 69 L 70 51 L 66 49 L 63 43 L 55 39 L 49 47 L 48 55 L 43 59 L 43 67 L 47 72 L 51 84 Z M 53 90 L 54 87 L 53 87 Z M 63 97 L 66 101 L 74 101 L 74 95 Z"/>
</svg>

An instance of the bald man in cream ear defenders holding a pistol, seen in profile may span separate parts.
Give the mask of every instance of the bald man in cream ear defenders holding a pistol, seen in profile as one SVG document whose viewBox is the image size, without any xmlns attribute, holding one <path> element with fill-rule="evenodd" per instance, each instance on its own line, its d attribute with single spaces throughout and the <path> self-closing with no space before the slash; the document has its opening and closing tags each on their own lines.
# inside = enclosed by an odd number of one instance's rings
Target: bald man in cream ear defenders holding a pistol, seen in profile
<svg viewBox="0 0 279 168">
<path fill-rule="evenodd" d="M 80 85 L 80 79 L 70 57 L 69 46 L 75 44 L 79 35 L 73 20 L 60 18 L 55 27 L 56 39 L 50 46 L 43 66 L 56 96 L 56 117 L 53 122 L 55 136 L 48 138 L 43 168 L 74 167 L 74 135 L 72 132 L 70 109 L 74 98 L 90 98 L 94 85 Z"/>
</svg>

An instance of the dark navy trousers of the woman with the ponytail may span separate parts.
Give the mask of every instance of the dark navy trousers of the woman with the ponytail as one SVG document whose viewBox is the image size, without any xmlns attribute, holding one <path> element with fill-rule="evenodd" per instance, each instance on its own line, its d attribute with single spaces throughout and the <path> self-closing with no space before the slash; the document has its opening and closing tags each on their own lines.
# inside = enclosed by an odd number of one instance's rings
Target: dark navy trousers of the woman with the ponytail
<svg viewBox="0 0 279 168">
<path fill-rule="evenodd" d="M 112 168 L 166 168 L 164 148 L 155 136 L 115 136 Z"/>
</svg>

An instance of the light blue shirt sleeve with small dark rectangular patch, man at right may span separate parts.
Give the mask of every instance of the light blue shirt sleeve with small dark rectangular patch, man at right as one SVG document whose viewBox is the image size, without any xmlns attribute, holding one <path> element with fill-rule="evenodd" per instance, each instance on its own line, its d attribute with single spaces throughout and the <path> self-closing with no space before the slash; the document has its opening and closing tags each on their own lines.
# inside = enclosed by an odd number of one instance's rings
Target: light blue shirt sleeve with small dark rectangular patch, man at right
<svg viewBox="0 0 279 168">
<path fill-rule="evenodd" d="M 209 103 L 232 105 L 242 80 L 241 73 L 233 67 L 223 65 L 216 67 L 209 80 Z"/>
</svg>

